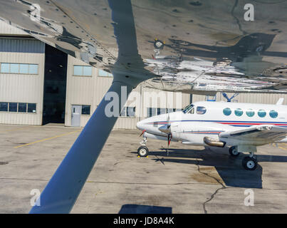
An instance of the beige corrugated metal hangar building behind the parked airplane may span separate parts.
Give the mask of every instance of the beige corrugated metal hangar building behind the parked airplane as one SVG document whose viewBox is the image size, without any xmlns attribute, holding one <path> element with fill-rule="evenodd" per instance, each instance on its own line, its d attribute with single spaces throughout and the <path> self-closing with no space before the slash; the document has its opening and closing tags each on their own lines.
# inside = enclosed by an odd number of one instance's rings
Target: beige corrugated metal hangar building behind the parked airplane
<svg viewBox="0 0 287 228">
<path fill-rule="evenodd" d="M 89 66 L 56 48 L 0 21 L 0 123 L 44 125 L 62 123 L 83 127 L 113 81 L 110 73 Z M 137 86 L 138 103 L 128 101 L 115 128 L 134 129 L 137 121 L 158 113 L 179 110 L 198 100 L 214 97 L 163 92 Z M 145 105 L 143 94 L 169 97 L 171 105 Z M 179 99 L 180 96 L 180 99 Z M 241 93 L 235 102 L 276 103 L 287 95 Z M 175 100 L 177 102 L 175 102 Z M 135 116 L 135 112 L 141 113 Z"/>
</svg>

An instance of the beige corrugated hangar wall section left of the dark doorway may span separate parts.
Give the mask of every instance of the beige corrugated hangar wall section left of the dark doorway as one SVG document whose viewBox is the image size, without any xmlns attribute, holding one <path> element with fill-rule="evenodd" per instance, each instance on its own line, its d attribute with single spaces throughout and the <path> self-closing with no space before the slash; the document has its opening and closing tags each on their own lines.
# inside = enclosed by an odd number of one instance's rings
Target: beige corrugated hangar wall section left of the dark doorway
<svg viewBox="0 0 287 228">
<path fill-rule="evenodd" d="M 36 113 L 0 112 L 0 123 L 41 125 L 45 45 L 34 38 L 1 38 L 0 63 L 38 64 L 38 74 L 0 73 L 0 102 L 36 103 Z"/>
</svg>

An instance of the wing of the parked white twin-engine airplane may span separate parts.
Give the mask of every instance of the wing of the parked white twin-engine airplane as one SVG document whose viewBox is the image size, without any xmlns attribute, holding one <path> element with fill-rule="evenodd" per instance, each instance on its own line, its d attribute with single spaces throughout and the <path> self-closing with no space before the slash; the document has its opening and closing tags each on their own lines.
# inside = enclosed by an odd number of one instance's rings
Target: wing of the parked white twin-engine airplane
<svg viewBox="0 0 287 228">
<path fill-rule="evenodd" d="M 263 144 L 282 140 L 287 136 L 287 128 L 276 125 L 257 125 L 243 130 L 226 131 L 219 134 L 219 138 Z"/>
</svg>

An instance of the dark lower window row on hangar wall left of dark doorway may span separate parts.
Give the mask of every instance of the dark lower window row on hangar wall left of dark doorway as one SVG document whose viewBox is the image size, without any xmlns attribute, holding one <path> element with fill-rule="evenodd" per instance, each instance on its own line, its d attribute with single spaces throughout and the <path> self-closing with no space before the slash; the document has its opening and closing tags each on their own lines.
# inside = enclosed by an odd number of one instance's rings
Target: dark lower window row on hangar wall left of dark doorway
<svg viewBox="0 0 287 228">
<path fill-rule="evenodd" d="M 36 113 L 36 103 L 0 102 L 0 111 L 11 113 Z"/>
</svg>

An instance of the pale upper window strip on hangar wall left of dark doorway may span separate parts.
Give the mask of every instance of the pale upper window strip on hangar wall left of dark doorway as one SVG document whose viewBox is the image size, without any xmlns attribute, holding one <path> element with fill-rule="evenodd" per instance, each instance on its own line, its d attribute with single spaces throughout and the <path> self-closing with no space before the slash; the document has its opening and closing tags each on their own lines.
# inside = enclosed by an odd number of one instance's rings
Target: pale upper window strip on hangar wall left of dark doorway
<svg viewBox="0 0 287 228">
<path fill-rule="evenodd" d="M 38 64 L 1 63 L 0 73 L 38 74 Z"/>
</svg>

